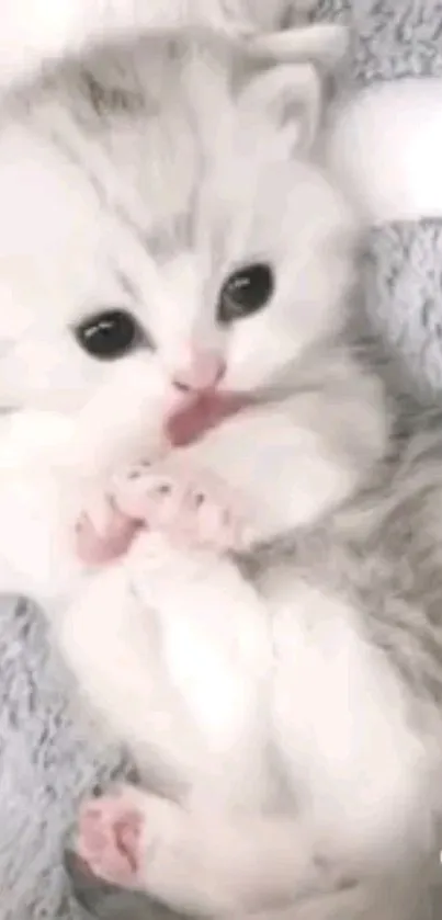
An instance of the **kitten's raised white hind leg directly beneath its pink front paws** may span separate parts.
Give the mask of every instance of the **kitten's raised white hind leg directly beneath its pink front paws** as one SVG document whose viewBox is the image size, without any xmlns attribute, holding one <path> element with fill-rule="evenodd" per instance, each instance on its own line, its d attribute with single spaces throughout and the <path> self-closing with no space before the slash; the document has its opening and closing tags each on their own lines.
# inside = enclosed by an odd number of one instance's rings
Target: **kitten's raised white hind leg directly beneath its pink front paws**
<svg viewBox="0 0 442 920">
<path fill-rule="evenodd" d="M 268 634 L 260 599 L 229 559 L 140 529 L 124 557 L 88 579 L 58 640 L 84 693 L 141 763 L 154 750 L 211 799 L 228 799 L 247 774 L 256 800 L 267 782 Z"/>
</svg>

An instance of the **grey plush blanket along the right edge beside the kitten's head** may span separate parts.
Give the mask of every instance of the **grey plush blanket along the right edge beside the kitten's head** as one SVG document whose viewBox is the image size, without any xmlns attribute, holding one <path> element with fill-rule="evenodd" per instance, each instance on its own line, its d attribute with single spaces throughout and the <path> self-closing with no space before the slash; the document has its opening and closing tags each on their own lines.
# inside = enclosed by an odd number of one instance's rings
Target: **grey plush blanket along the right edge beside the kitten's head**
<svg viewBox="0 0 442 920">
<path fill-rule="evenodd" d="M 322 0 L 315 19 L 351 25 L 351 87 L 442 77 L 441 0 Z M 375 323 L 424 389 L 442 391 L 442 222 L 373 231 L 365 291 Z"/>
</svg>

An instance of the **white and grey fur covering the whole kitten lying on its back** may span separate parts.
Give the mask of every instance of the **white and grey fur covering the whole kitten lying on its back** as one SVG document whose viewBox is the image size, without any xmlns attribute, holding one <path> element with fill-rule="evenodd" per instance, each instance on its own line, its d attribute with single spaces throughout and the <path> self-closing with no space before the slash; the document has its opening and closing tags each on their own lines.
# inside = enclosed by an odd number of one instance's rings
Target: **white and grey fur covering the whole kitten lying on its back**
<svg viewBox="0 0 442 920">
<path fill-rule="evenodd" d="M 87 813 L 104 876 L 203 913 L 408 920 L 441 807 L 440 435 L 404 446 L 350 347 L 360 230 L 320 113 L 314 67 L 208 38 L 103 54 L 9 101 L 3 584 L 53 602 L 84 694 L 167 793 Z M 257 259 L 271 303 L 222 328 L 224 280 Z M 72 333 L 104 305 L 144 332 L 121 361 Z M 195 348 L 256 405 L 159 461 Z M 216 475 L 222 511 L 253 509 L 253 544 L 178 547 L 169 526 L 84 569 L 69 523 L 84 507 L 99 526 L 97 495 L 137 452 L 169 497 L 191 475 L 219 506 Z"/>
</svg>

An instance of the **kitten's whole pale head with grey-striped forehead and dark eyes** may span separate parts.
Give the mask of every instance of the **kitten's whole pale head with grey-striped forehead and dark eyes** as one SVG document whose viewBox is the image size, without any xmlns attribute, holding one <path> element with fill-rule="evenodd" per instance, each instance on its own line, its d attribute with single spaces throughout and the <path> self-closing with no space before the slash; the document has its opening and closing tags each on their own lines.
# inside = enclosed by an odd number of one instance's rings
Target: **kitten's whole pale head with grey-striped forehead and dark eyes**
<svg viewBox="0 0 442 920">
<path fill-rule="evenodd" d="M 340 328 L 356 230 L 316 163 L 318 71 L 234 57 L 141 44 L 4 120 L 2 405 L 253 395 Z"/>
</svg>

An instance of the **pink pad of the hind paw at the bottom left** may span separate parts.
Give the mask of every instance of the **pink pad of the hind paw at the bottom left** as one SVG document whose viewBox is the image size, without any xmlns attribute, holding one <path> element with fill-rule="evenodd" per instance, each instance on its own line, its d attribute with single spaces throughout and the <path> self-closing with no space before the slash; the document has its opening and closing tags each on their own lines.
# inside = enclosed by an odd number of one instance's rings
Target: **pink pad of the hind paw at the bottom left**
<svg viewBox="0 0 442 920">
<path fill-rule="evenodd" d="M 99 878 L 134 887 L 141 829 L 143 816 L 124 795 L 88 800 L 79 817 L 77 853 Z"/>
</svg>

